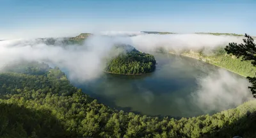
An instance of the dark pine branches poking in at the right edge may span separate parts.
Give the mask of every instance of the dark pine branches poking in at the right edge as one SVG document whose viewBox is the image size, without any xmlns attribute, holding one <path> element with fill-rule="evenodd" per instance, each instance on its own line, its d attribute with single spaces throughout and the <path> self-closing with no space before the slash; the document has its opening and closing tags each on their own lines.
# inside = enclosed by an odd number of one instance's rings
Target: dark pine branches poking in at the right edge
<svg viewBox="0 0 256 138">
<path fill-rule="evenodd" d="M 227 54 L 233 54 L 236 57 L 242 57 L 242 61 L 252 61 L 252 65 L 256 66 L 256 44 L 253 43 L 252 36 L 248 34 L 244 35 L 246 39 L 243 39 L 244 43 L 228 43 L 225 50 Z M 256 77 L 247 77 L 252 83 L 251 89 L 253 96 L 256 98 Z"/>
</svg>

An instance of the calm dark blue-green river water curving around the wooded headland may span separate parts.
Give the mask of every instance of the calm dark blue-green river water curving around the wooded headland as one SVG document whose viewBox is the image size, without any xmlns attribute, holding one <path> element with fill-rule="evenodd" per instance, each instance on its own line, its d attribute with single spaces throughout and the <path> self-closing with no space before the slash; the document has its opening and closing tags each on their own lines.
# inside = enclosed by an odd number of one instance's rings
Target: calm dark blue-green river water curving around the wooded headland
<svg viewBox="0 0 256 138">
<path fill-rule="evenodd" d="M 191 93 L 198 88 L 196 78 L 215 72 L 216 66 L 171 54 L 154 56 L 157 67 L 153 73 L 105 73 L 90 82 L 72 83 L 99 102 L 124 111 L 173 117 L 205 114 L 194 104 Z"/>
</svg>

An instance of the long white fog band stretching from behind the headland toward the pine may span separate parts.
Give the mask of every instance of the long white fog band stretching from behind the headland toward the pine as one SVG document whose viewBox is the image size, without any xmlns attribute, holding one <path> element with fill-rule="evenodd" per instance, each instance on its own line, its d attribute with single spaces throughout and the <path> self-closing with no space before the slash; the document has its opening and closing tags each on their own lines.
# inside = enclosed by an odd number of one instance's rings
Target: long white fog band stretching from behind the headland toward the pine
<svg viewBox="0 0 256 138">
<path fill-rule="evenodd" d="M 159 47 L 180 52 L 184 49 L 212 50 L 225 47 L 230 42 L 242 42 L 241 36 L 215 36 L 211 34 L 143 34 L 131 38 L 132 44 L 139 50 L 152 52 Z"/>
</svg>

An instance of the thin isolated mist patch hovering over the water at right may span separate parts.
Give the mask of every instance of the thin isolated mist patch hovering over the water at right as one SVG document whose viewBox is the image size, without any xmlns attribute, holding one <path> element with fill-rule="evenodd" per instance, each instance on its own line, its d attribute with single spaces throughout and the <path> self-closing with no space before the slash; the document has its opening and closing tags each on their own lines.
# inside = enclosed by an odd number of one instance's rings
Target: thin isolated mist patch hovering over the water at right
<svg viewBox="0 0 256 138">
<path fill-rule="evenodd" d="M 205 112 L 223 111 L 253 99 L 252 92 L 247 87 L 250 83 L 224 69 L 198 78 L 198 85 L 198 91 L 192 97 Z"/>
</svg>

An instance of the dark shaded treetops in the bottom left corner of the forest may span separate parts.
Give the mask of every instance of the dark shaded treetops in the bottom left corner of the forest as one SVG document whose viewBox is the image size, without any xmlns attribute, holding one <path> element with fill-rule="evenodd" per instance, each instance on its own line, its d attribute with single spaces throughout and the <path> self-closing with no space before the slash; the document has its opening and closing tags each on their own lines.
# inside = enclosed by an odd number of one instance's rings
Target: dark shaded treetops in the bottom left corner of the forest
<svg viewBox="0 0 256 138">
<path fill-rule="evenodd" d="M 9 103 L 10 102 L 10 103 Z M 20 105 L 19 105 L 20 104 Z M 16 100 L 0 100 L 1 137 L 72 137 L 47 109 L 29 108 Z"/>
</svg>

